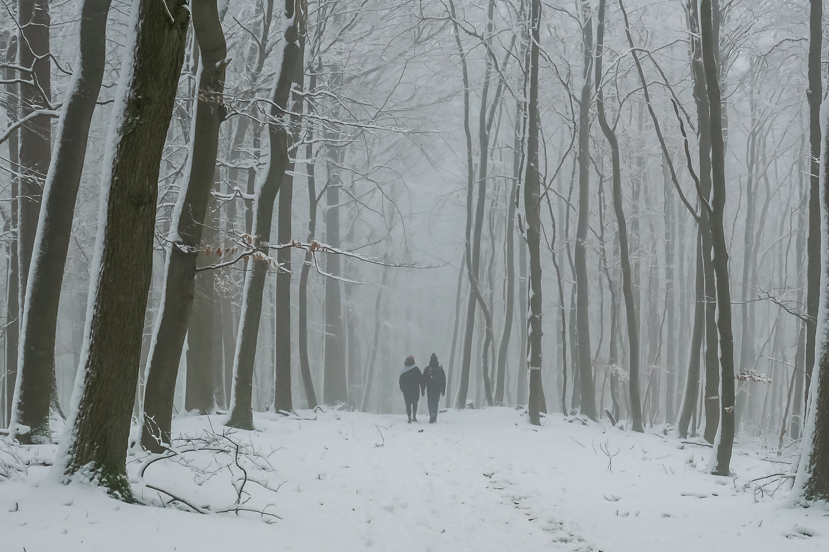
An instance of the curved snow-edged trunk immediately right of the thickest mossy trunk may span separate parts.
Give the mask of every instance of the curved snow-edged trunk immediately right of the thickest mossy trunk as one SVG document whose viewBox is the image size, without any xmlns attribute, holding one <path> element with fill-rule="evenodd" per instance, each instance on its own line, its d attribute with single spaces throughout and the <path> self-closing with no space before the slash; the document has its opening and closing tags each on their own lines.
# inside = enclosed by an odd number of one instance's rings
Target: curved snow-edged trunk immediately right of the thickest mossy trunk
<svg viewBox="0 0 829 552">
<path fill-rule="evenodd" d="M 196 263 L 201 250 L 207 204 L 215 179 L 219 127 L 226 113 L 222 102 L 225 67 L 228 63 L 225 60 L 227 47 L 216 1 L 195 0 L 191 9 L 193 30 L 201 54 L 197 74 L 196 117 L 191 130 L 182 189 L 179 190 L 170 223 L 172 233 L 167 238 L 163 300 L 150 342 L 144 390 L 141 444 L 155 453 L 162 452 L 162 443 L 170 442 L 178 366 L 193 306 Z M 211 280 L 213 277 L 209 276 Z M 210 286 L 211 282 L 203 283 Z M 212 300 L 212 292 L 210 295 Z M 212 314 L 210 321 L 201 322 L 212 324 Z M 207 335 L 211 334 L 212 332 Z M 194 353 L 199 354 L 201 351 Z M 202 368 L 206 370 L 208 367 L 201 364 L 191 367 L 192 370 Z M 212 374 L 212 371 L 206 374 Z M 201 376 L 208 381 L 211 377 L 204 374 Z"/>
</svg>

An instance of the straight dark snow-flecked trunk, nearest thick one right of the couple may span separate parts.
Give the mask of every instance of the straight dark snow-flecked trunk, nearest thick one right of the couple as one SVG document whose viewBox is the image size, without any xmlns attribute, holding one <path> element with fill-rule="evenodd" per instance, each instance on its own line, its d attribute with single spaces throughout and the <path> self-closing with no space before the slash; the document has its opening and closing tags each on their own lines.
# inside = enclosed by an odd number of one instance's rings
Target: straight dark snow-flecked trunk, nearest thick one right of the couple
<svg viewBox="0 0 829 552">
<path fill-rule="evenodd" d="M 524 211 L 526 229 L 524 238 L 530 252 L 530 308 L 527 313 L 530 368 L 530 402 L 527 410 L 530 423 L 541 425 L 544 390 L 541 386 L 541 175 L 538 165 L 538 50 L 541 29 L 541 0 L 531 0 L 530 45 L 530 100 L 527 110 L 526 183 Z"/>
</svg>

